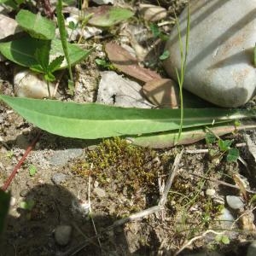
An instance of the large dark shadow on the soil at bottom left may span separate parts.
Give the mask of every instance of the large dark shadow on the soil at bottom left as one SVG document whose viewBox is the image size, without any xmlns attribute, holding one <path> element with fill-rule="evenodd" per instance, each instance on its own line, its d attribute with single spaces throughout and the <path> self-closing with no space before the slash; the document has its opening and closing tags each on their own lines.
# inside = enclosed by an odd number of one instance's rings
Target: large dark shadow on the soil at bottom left
<svg viewBox="0 0 256 256">
<path fill-rule="evenodd" d="M 78 198 L 63 187 L 38 185 L 25 195 L 24 201 L 33 201 L 34 207 L 31 211 L 18 208 L 18 218 L 9 216 L 1 256 L 130 254 L 122 227 L 106 232 L 115 220 L 112 216 L 93 217 L 100 247 L 90 218 L 73 207 Z M 61 224 L 72 226 L 67 246 L 60 246 L 55 241 L 54 230 Z M 83 249 L 78 250 L 82 246 Z"/>
</svg>

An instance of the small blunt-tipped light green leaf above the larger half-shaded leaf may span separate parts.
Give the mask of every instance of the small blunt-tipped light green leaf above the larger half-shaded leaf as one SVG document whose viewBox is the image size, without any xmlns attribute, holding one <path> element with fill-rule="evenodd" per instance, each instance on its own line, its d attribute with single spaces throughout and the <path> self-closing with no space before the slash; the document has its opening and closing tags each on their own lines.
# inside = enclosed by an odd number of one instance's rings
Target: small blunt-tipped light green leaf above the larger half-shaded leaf
<svg viewBox="0 0 256 256">
<path fill-rule="evenodd" d="M 51 40 L 55 37 L 55 23 L 32 12 L 21 9 L 16 15 L 18 24 L 33 38 Z"/>
</svg>

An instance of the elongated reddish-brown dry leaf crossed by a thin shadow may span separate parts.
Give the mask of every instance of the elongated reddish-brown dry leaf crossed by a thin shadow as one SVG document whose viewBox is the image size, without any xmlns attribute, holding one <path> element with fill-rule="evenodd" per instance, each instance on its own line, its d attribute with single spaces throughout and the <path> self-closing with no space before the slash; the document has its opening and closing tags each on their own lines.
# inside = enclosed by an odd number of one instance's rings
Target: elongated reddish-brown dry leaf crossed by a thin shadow
<svg viewBox="0 0 256 256">
<path fill-rule="evenodd" d="M 161 79 L 160 74 L 148 68 L 140 67 L 137 59 L 119 44 L 108 43 L 105 46 L 105 50 L 108 54 L 108 59 L 113 65 L 132 78 L 145 83 L 152 79 Z"/>
</svg>

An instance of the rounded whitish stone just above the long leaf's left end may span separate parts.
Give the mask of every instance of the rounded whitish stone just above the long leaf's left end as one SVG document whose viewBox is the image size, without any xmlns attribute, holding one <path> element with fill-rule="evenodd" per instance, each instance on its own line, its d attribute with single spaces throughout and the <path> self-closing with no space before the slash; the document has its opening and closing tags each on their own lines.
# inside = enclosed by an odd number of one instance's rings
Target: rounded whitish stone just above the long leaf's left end
<svg viewBox="0 0 256 256">
<path fill-rule="evenodd" d="M 28 97 L 41 99 L 48 97 L 47 83 L 40 74 L 32 73 L 30 70 L 22 70 L 15 73 L 14 78 L 15 95 L 19 97 Z M 49 83 L 50 95 L 53 96 L 55 85 Z M 56 97 L 59 94 L 55 95 Z"/>
</svg>

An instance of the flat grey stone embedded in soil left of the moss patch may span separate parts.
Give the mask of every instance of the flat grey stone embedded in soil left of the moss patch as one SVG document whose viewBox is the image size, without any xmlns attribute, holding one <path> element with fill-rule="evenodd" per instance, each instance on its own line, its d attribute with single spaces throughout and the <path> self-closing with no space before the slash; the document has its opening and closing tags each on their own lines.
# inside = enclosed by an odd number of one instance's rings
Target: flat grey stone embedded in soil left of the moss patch
<svg viewBox="0 0 256 256">
<path fill-rule="evenodd" d="M 64 150 L 57 150 L 49 158 L 49 164 L 52 166 L 64 166 L 69 160 L 77 158 L 83 154 L 82 148 L 67 148 Z"/>
</svg>

